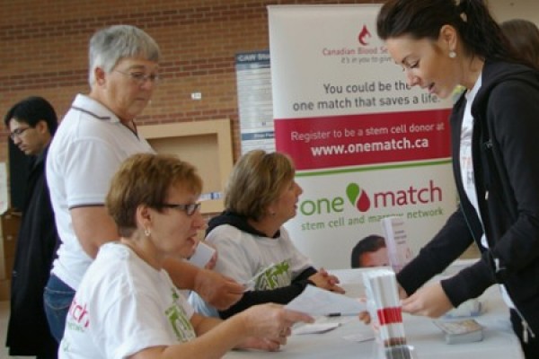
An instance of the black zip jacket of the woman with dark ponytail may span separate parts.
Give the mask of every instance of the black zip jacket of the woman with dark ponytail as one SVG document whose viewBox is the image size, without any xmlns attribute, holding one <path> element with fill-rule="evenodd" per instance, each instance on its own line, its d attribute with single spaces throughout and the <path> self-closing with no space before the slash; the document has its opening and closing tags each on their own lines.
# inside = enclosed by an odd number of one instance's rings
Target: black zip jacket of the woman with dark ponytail
<svg viewBox="0 0 539 359">
<path fill-rule="evenodd" d="M 482 258 L 443 280 L 453 305 L 504 284 L 539 333 L 539 74 L 526 66 L 485 63 L 473 101 L 473 171 L 482 222 L 464 193 L 459 151 L 464 95 L 451 115 L 453 170 L 460 208 L 398 275 L 407 293 L 441 272 L 473 241 Z M 489 249 L 481 246 L 482 223 Z"/>
</svg>

